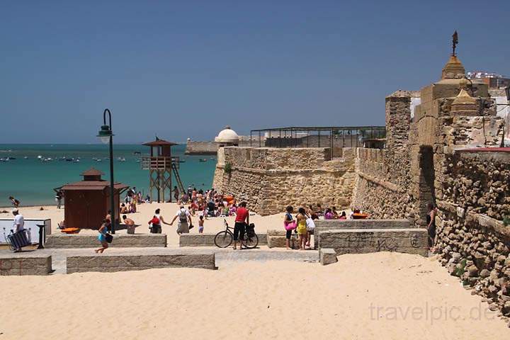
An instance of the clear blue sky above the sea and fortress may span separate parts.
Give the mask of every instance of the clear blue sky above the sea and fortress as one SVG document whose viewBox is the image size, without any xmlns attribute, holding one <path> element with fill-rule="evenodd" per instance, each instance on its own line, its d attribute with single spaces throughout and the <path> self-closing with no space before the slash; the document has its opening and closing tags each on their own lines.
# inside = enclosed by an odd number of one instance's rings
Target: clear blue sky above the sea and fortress
<svg viewBox="0 0 510 340">
<path fill-rule="evenodd" d="M 510 75 L 510 1 L 0 0 L 0 143 L 208 140 L 282 125 L 384 125 L 385 96 Z"/>
</svg>

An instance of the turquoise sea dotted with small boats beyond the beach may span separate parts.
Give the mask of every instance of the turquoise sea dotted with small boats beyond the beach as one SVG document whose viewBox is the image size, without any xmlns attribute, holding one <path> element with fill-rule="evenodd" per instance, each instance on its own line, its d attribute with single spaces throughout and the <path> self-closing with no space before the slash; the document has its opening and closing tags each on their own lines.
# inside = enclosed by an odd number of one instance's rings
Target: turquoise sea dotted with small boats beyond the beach
<svg viewBox="0 0 510 340">
<path fill-rule="evenodd" d="M 216 166 L 216 158 L 210 156 L 184 155 L 186 145 L 172 147 L 172 155 L 186 162 L 180 164 L 179 174 L 184 186 L 210 188 Z M 147 193 L 149 171 L 142 170 L 141 152 L 147 154 L 149 147 L 143 145 L 114 145 L 114 176 L 128 186 Z M 21 205 L 53 205 L 55 191 L 65 183 L 81 181 L 81 172 L 94 168 L 103 171 L 103 179 L 109 180 L 108 145 L 8 145 L 0 144 L 0 207 L 9 206 L 8 196 L 14 196 Z M 39 157 L 39 158 L 38 158 Z M 125 159 L 121 162 L 118 158 Z M 44 159 L 48 159 L 46 162 Z M 51 160 L 49 160 L 51 159 Z M 66 160 L 67 159 L 67 160 Z M 72 161 L 74 159 L 74 161 Z M 77 162 L 79 159 L 79 162 Z M 101 162 L 95 159 L 101 159 Z M 199 162 L 207 159 L 207 162 Z M 173 181 L 173 183 L 175 183 Z"/>
</svg>

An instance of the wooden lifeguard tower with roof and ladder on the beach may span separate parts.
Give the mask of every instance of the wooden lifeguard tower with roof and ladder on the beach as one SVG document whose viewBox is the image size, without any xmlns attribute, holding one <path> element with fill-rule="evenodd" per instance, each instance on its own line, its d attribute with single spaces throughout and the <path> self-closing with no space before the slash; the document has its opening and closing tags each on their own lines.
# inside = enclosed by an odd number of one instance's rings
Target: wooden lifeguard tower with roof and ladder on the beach
<svg viewBox="0 0 510 340">
<path fill-rule="evenodd" d="M 165 191 L 168 191 L 169 201 L 172 199 L 172 173 L 176 179 L 176 186 L 181 193 L 184 192 L 184 186 L 179 176 L 179 157 L 171 156 L 171 147 L 177 145 L 173 142 L 156 140 L 145 143 L 150 147 L 150 156 L 142 157 L 142 169 L 149 170 L 149 192 L 151 199 L 154 189 L 157 193 L 157 201 L 165 201 Z"/>
</svg>

